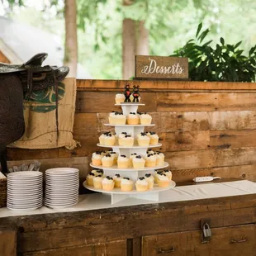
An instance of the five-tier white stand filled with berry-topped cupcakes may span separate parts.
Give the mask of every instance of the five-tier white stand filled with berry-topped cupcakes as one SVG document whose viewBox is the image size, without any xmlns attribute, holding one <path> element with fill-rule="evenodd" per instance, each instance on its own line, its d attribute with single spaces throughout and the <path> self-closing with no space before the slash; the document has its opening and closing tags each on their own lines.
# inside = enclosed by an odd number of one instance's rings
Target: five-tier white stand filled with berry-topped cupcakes
<svg viewBox="0 0 256 256">
<path fill-rule="evenodd" d="M 144 105 L 140 102 L 117 102 L 116 106 L 121 106 L 122 114 L 116 116 L 125 116 L 126 121 L 121 123 L 121 118 L 117 117 L 115 123 L 110 115 L 110 124 L 105 126 L 115 126 L 116 135 L 104 133 L 97 146 L 111 149 L 92 155 L 90 165 L 96 170 L 88 175 L 83 186 L 92 191 L 111 194 L 112 204 L 128 197 L 159 201 L 159 192 L 175 187 L 169 178 L 170 171 L 158 173 L 159 169 L 167 168 L 168 163 L 164 162 L 164 154 L 151 149 L 161 146 L 158 136 L 144 132 L 145 126 L 154 126 L 151 120 L 145 120 L 149 116 L 142 113 L 144 116 L 139 115 L 139 123 L 132 121 L 134 116 L 138 116 L 138 107 Z"/>
</svg>

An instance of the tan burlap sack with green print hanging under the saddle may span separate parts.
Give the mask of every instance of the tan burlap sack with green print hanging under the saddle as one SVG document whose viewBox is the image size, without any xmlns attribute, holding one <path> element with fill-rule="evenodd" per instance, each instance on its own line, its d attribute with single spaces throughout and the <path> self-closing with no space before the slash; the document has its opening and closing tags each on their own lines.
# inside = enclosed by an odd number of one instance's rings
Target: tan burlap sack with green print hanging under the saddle
<svg viewBox="0 0 256 256">
<path fill-rule="evenodd" d="M 53 149 L 76 146 L 73 140 L 73 119 L 76 101 L 76 80 L 66 78 L 59 83 L 59 138 L 55 119 L 55 90 L 47 88 L 24 100 L 26 130 L 20 140 L 9 147 L 20 149 Z"/>
</svg>

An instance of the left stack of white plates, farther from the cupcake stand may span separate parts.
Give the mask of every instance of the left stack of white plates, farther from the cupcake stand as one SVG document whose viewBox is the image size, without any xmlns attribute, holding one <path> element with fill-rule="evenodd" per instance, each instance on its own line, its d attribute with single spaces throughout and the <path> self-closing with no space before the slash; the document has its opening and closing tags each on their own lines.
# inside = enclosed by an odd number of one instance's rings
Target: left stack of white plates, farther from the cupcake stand
<svg viewBox="0 0 256 256">
<path fill-rule="evenodd" d="M 7 208 L 33 211 L 43 205 L 43 173 L 23 171 L 7 175 Z"/>
</svg>

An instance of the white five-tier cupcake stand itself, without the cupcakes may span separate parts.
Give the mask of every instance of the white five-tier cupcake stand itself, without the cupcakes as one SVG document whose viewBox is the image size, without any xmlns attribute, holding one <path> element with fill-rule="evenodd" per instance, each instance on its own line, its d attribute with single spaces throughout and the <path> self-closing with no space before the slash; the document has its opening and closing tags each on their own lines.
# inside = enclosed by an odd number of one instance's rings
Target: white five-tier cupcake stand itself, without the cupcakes
<svg viewBox="0 0 256 256">
<path fill-rule="evenodd" d="M 128 116 L 130 112 L 137 112 L 139 106 L 145 106 L 145 104 L 141 103 L 121 103 L 121 104 L 116 104 L 116 106 L 121 106 L 122 111 L 124 115 Z M 120 135 L 122 132 L 127 132 L 128 134 L 132 135 L 132 137 L 136 138 L 137 135 L 140 134 L 140 132 L 143 132 L 145 125 L 111 125 L 111 124 L 105 124 L 105 126 L 115 126 L 115 131 L 116 135 Z M 154 126 L 154 125 L 148 125 L 148 126 Z M 105 147 L 105 145 L 100 145 L 97 144 L 99 147 Z M 146 156 L 147 154 L 147 149 L 149 148 L 158 148 L 160 147 L 161 144 L 158 145 L 149 145 L 147 147 L 142 147 L 139 145 L 134 145 L 132 147 L 126 147 L 126 146 L 119 146 L 119 145 L 114 145 L 109 148 L 112 148 L 113 151 L 116 153 L 120 154 L 125 154 L 126 156 L 130 156 L 130 154 L 137 153 L 142 156 Z M 139 177 L 145 176 L 146 173 L 154 173 L 154 170 L 156 169 L 161 169 L 161 168 L 167 168 L 168 163 L 164 162 L 164 165 L 161 166 L 154 166 L 152 168 L 145 167 L 145 168 L 117 168 L 117 165 L 112 166 L 111 168 L 103 168 L 101 166 L 96 166 L 93 165 L 92 163 L 90 164 L 92 168 L 101 168 L 104 171 L 104 176 L 111 176 L 113 177 L 116 173 L 121 174 L 121 177 L 128 177 L 132 179 L 134 182 Z M 86 184 L 86 181 L 83 183 L 83 186 L 88 188 L 89 190 L 95 191 L 95 192 L 102 192 L 106 194 L 111 195 L 111 204 L 114 204 L 118 201 L 125 200 L 126 198 L 133 197 L 133 198 L 139 198 L 139 199 L 144 199 L 144 200 L 149 200 L 149 201 L 159 201 L 159 192 L 168 190 L 170 188 L 175 187 L 175 183 L 173 181 L 170 182 L 170 185 L 168 187 L 159 187 L 158 185 L 154 184 L 154 188 L 151 190 L 148 190 L 146 192 L 137 192 L 136 190 L 133 190 L 131 192 L 122 192 L 121 188 L 115 187 L 111 191 L 105 191 L 103 189 L 98 189 L 94 188 L 92 186 L 88 186 Z"/>
</svg>

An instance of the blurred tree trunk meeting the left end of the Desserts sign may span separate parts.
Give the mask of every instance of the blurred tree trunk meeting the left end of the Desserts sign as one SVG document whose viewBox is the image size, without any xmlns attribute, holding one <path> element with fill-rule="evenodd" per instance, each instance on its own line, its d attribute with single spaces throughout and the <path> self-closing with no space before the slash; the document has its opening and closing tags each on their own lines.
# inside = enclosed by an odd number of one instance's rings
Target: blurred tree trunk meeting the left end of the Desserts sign
<svg viewBox="0 0 256 256">
<path fill-rule="evenodd" d="M 135 41 L 135 21 L 124 19 L 122 33 L 123 79 L 129 79 L 135 75 Z"/>
</svg>

